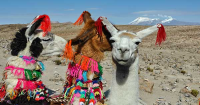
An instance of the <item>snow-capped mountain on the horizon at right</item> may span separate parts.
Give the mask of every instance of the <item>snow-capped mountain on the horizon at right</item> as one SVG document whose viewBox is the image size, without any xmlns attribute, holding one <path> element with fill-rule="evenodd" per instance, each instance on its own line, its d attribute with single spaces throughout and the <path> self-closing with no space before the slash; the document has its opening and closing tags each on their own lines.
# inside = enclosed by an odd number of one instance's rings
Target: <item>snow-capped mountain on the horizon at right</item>
<svg viewBox="0 0 200 105">
<path fill-rule="evenodd" d="M 161 22 L 165 22 L 163 23 L 164 25 L 200 25 L 200 23 L 196 22 L 178 21 L 172 17 L 169 17 L 168 19 L 164 20 L 161 20 L 159 18 L 138 17 L 132 22 L 130 22 L 129 25 L 155 25 Z"/>
</svg>

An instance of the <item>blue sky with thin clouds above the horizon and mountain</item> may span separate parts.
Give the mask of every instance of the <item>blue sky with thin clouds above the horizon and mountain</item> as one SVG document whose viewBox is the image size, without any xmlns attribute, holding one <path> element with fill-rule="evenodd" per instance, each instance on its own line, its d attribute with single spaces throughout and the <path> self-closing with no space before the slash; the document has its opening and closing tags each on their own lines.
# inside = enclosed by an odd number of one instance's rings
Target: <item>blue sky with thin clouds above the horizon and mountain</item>
<svg viewBox="0 0 200 105">
<path fill-rule="evenodd" d="M 1 0 L 0 24 L 29 23 L 39 14 L 75 22 L 84 10 L 95 20 L 106 16 L 114 24 L 144 16 L 200 22 L 200 0 Z"/>
</svg>

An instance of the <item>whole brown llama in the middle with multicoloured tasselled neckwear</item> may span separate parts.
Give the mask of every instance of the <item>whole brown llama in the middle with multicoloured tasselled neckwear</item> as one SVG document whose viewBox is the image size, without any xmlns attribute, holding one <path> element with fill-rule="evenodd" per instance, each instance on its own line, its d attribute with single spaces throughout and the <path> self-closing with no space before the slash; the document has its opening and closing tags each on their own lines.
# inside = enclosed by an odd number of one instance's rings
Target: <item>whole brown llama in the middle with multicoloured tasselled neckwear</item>
<svg viewBox="0 0 200 105">
<path fill-rule="evenodd" d="M 102 93 L 102 67 L 100 61 L 104 51 L 111 51 L 111 35 L 102 27 L 99 19 L 95 22 L 91 14 L 84 11 L 74 23 L 85 23 L 78 36 L 66 44 L 64 57 L 71 60 L 68 65 L 64 98 L 69 97 L 73 105 L 94 105 L 104 103 Z M 74 53 L 71 46 L 75 46 Z M 58 99 L 59 100 L 59 99 Z"/>
</svg>

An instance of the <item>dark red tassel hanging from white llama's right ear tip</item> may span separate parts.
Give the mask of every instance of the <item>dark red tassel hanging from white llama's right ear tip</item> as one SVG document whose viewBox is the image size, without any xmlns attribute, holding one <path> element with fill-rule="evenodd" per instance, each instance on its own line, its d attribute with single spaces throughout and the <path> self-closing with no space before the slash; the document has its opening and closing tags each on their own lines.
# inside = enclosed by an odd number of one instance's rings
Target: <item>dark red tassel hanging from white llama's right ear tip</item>
<svg viewBox="0 0 200 105">
<path fill-rule="evenodd" d="M 165 28 L 162 24 L 160 24 L 161 27 L 158 27 L 158 33 L 157 33 L 157 38 L 156 38 L 156 45 L 160 45 L 163 41 L 166 39 L 166 33 L 165 33 Z"/>
</svg>

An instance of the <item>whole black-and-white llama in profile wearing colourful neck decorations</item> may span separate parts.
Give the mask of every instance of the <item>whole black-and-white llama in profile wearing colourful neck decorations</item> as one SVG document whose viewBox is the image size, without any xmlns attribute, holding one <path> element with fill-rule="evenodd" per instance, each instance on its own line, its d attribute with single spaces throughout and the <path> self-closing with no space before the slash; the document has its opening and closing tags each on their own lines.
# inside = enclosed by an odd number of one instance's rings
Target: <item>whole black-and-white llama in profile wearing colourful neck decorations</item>
<svg viewBox="0 0 200 105">
<path fill-rule="evenodd" d="M 41 80 L 44 65 L 40 55 L 62 53 L 66 41 L 51 31 L 48 15 L 39 15 L 27 27 L 20 29 L 11 42 L 11 57 L 4 70 L 4 85 L 0 91 L 3 105 L 42 105 L 48 91 Z"/>
</svg>

